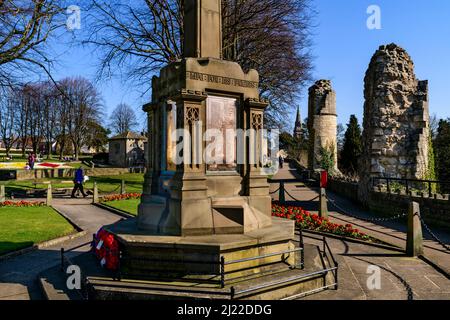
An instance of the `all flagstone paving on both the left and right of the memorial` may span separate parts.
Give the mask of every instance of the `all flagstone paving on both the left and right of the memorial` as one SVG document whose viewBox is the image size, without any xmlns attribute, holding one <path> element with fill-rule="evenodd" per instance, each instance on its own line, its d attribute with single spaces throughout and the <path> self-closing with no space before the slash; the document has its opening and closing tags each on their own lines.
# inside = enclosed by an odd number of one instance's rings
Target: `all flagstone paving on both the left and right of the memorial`
<svg viewBox="0 0 450 320">
<path fill-rule="evenodd" d="M 274 179 L 295 179 L 297 173 L 293 168 L 285 166 Z M 276 184 L 271 185 L 275 191 Z M 302 183 L 286 185 L 288 192 L 296 199 L 294 202 L 312 212 L 317 211 L 318 193 L 314 188 L 306 187 Z M 275 199 L 277 195 L 274 195 Z M 329 194 L 336 204 L 351 212 L 352 215 L 364 218 L 373 216 L 356 207 L 346 199 Z M 289 196 L 286 198 L 290 199 Z M 122 219 L 108 211 L 90 204 L 90 200 L 54 199 L 54 207 L 70 218 L 87 235 L 75 240 L 49 248 L 37 250 L 6 261 L 0 262 L 0 300 L 28 300 L 43 299 L 37 283 L 40 272 L 59 263 L 60 248 L 70 249 L 88 243 L 92 234 L 101 226 L 112 224 Z M 363 232 L 366 232 L 385 242 L 404 248 L 406 235 L 401 223 L 373 224 L 345 215 L 345 212 L 330 205 L 331 220 L 339 223 L 351 223 Z M 450 239 L 446 232 L 436 232 L 441 239 L 448 243 Z M 445 299 L 450 300 L 450 280 L 448 275 L 438 272 L 423 259 L 406 257 L 400 249 L 391 250 L 367 246 L 365 244 L 327 238 L 331 249 L 339 262 L 339 290 L 328 290 L 311 295 L 305 299 Z M 305 239 L 306 242 L 315 243 L 316 240 Z M 425 241 L 425 255 L 437 262 L 444 271 L 450 270 L 450 255 L 439 244 L 431 240 Z M 79 255 L 89 250 L 89 245 L 70 253 L 69 257 Z M 369 266 L 378 267 L 381 275 L 381 287 L 368 286 L 370 273 Z"/>
</svg>

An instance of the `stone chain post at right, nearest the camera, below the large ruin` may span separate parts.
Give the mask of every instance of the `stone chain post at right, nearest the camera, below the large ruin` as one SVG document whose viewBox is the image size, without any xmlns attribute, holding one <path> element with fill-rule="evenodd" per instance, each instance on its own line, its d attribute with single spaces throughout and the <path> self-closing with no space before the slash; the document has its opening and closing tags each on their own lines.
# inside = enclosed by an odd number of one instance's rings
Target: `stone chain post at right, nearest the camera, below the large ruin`
<svg viewBox="0 0 450 320">
<path fill-rule="evenodd" d="M 420 206 L 417 202 L 411 202 L 409 205 L 406 254 L 409 257 L 423 254 L 422 222 L 420 221 Z"/>
</svg>

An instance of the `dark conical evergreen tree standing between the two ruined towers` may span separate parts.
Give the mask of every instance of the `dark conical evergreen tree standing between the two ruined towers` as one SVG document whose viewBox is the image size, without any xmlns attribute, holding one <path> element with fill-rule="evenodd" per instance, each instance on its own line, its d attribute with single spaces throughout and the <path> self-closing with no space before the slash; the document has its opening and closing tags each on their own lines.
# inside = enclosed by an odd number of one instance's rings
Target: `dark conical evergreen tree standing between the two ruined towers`
<svg viewBox="0 0 450 320">
<path fill-rule="evenodd" d="M 350 116 L 344 137 L 344 146 L 340 156 L 340 169 L 346 174 L 358 171 L 358 160 L 362 153 L 361 127 L 355 115 Z"/>
</svg>

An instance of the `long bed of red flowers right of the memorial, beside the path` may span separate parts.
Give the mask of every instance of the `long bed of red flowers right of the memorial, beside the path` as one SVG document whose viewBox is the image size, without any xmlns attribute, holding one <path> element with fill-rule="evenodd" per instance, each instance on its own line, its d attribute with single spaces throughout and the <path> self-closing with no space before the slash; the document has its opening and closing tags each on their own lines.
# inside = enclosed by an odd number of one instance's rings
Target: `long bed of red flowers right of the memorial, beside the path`
<svg viewBox="0 0 450 320">
<path fill-rule="evenodd" d="M 272 216 L 295 220 L 297 227 L 303 230 L 332 233 L 339 236 L 350 237 L 365 241 L 372 241 L 370 236 L 353 228 L 351 224 L 341 225 L 332 223 L 328 218 L 321 218 L 317 214 L 312 214 L 301 207 L 283 206 L 277 203 L 272 204 Z"/>
</svg>

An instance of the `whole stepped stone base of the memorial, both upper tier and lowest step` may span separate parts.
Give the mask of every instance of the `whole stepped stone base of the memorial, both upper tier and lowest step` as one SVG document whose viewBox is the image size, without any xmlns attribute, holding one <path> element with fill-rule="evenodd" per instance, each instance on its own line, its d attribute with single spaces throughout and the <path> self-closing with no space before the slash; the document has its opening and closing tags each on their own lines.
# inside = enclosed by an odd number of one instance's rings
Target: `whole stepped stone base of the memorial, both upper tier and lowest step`
<svg viewBox="0 0 450 320">
<path fill-rule="evenodd" d="M 301 252 L 289 220 L 211 236 L 149 236 L 135 220 L 106 229 L 121 245 L 120 281 L 87 275 L 90 299 L 278 300 L 324 290 L 333 281 L 319 247 L 306 244 Z"/>
</svg>

